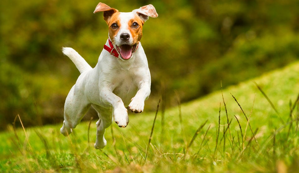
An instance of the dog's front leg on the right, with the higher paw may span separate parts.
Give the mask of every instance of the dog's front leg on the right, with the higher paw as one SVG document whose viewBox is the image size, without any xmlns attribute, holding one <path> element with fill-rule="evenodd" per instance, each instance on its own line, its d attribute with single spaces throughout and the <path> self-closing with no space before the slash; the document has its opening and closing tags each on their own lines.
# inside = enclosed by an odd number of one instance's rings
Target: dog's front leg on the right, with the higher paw
<svg viewBox="0 0 299 173">
<path fill-rule="evenodd" d="M 140 84 L 140 89 L 136 95 L 131 99 L 129 108 L 131 112 L 140 113 L 144 109 L 144 101 L 150 96 L 150 81 Z"/>
</svg>

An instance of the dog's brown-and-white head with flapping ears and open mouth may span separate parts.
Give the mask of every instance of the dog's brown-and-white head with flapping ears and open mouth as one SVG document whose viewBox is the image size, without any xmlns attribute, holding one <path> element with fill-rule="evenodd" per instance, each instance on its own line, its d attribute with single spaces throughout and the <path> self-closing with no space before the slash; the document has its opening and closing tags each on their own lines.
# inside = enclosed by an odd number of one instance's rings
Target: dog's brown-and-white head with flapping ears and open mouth
<svg viewBox="0 0 299 173">
<path fill-rule="evenodd" d="M 142 37 L 142 27 L 149 17 L 158 17 L 153 5 L 135 9 L 132 12 L 119 12 L 104 3 L 99 3 L 93 13 L 104 12 L 104 20 L 109 27 L 109 39 L 124 60 L 131 58 Z"/>
</svg>

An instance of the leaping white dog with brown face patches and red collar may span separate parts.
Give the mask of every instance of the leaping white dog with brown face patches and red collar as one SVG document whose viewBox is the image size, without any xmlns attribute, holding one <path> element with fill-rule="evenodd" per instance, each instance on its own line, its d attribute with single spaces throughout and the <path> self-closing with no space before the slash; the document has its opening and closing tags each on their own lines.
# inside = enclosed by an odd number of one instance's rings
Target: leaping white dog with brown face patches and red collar
<svg viewBox="0 0 299 173">
<path fill-rule="evenodd" d="M 65 100 L 60 132 L 64 136 L 72 133 L 93 107 L 99 116 L 96 149 L 106 146 L 104 132 L 113 120 L 119 127 L 128 125 L 127 106 L 131 112 L 143 112 L 144 102 L 150 95 L 151 78 L 140 39 L 144 22 L 149 17 L 158 17 L 151 4 L 132 12 L 119 12 L 100 2 L 94 13 L 100 11 L 103 11 L 109 34 L 94 68 L 73 48 L 62 48 L 81 74 Z"/>
</svg>

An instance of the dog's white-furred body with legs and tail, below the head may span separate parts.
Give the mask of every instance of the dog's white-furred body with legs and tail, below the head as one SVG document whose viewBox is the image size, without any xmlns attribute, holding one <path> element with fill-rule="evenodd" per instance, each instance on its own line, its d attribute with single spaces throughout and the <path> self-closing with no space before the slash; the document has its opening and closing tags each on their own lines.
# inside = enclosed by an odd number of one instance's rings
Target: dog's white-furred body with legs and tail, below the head
<svg viewBox="0 0 299 173">
<path fill-rule="evenodd" d="M 108 40 L 106 45 L 109 46 Z M 60 132 L 65 136 L 72 133 L 92 106 L 99 116 L 94 147 L 104 148 L 107 143 L 104 132 L 113 118 L 118 126 L 126 127 L 129 123 L 126 106 L 132 112 L 142 112 L 144 101 L 150 95 L 150 70 L 145 52 L 139 43 L 132 57 L 124 61 L 103 49 L 94 68 L 72 48 L 63 48 L 63 53 L 74 62 L 81 75 L 65 100 Z"/>
</svg>

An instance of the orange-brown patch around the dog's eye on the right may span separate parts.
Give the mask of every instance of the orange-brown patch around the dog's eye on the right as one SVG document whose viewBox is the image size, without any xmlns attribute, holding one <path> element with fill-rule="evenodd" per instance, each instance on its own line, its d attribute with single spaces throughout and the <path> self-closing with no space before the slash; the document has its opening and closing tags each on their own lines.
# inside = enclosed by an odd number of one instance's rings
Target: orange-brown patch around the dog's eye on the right
<svg viewBox="0 0 299 173">
<path fill-rule="evenodd" d="M 138 44 L 141 40 L 143 23 L 144 22 L 137 14 L 128 22 L 128 27 L 133 37 L 134 43 Z"/>
</svg>

